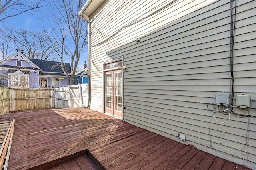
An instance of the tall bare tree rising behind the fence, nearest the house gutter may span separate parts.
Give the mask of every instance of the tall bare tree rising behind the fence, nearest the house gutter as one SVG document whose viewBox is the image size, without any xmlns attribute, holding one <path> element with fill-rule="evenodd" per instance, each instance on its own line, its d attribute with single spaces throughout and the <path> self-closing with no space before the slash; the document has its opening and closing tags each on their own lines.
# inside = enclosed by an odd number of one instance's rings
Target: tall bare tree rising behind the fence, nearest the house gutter
<svg viewBox="0 0 256 170">
<path fill-rule="evenodd" d="M 60 63 L 64 73 L 69 75 L 69 84 L 72 85 L 76 67 L 80 59 L 82 49 L 87 42 L 87 23 L 78 17 L 78 11 L 82 8 L 84 0 L 53 1 L 52 31 L 48 32 L 51 44 L 60 57 Z M 65 60 L 70 61 L 71 73 L 67 72 Z"/>
</svg>

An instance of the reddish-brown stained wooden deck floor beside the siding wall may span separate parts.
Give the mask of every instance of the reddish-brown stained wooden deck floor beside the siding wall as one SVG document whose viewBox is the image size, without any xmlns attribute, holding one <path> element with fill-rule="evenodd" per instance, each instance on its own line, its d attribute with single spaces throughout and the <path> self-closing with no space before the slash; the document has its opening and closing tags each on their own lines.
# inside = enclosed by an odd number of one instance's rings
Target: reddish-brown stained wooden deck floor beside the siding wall
<svg viewBox="0 0 256 170">
<path fill-rule="evenodd" d="M 33 168 L 86 149 L 110 170 L 248 169 L 90 109 L 9 113 L 1 121 L 13 118 L 10 170 Z"/>
</svg>

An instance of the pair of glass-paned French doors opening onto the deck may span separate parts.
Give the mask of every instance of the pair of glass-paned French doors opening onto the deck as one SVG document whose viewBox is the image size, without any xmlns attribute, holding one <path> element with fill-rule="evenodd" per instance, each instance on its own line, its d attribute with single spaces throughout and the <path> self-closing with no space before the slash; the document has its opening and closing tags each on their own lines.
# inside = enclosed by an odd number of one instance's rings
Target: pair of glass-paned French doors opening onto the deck
<svg viewBox="0 0 256 170">
<path fill-rule="evenodd" d="M 105 72 L 105 112 L 122 117 L 122 69 Z"/>
</svg>

